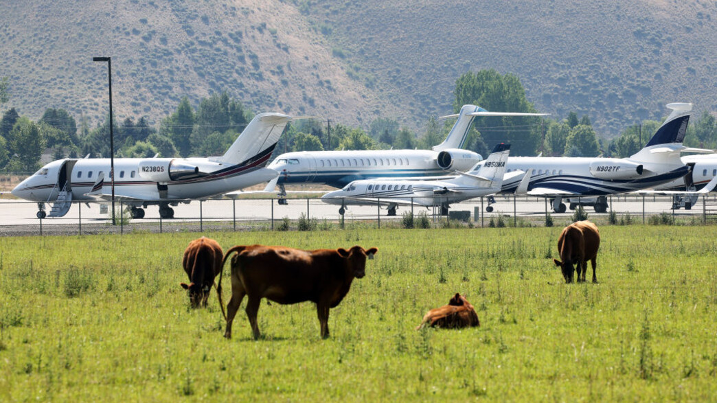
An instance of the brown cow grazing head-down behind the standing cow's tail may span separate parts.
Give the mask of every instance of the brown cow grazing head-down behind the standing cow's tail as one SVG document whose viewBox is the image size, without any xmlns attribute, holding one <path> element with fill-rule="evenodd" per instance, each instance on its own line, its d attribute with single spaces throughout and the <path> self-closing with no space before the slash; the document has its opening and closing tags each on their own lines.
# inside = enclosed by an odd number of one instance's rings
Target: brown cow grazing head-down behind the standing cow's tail
<svg viewBox="0 0 717 403">
<path fill-rule="evenodd" d="M 201 237 L 189 242 L 184 251 L 182 265 L 189 284 L 181 283 L 185 290 L 189 290 L 189 302 L 192 308 L 206 307 L 206 299 L 212 290 L 214 278 L 222 272 L 222 247 L 217 241 Z"/>
</svg>

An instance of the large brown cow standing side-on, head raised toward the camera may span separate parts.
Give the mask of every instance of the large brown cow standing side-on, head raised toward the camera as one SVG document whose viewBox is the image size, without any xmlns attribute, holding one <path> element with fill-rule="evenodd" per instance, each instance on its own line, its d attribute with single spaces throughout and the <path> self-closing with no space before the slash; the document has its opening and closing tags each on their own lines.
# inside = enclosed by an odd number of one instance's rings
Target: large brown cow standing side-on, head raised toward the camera
<svg viewBox="0 0 717 403">
<path fill-rule="evenodd" d="M 280 304 L 312 301 L 316 304 L 321 337 L 328 337 L 328 310 L 343 300 L 353 278 L 366 274 L 366 257 L 373 259 L 378 249 L 298 250 L 282 246 L 235 246 L 222 261 L 232 257 L 232 299 L 227 304 L 227 331 L 232 337 L 232 321 L 247 295 L 247 316 L 254 338 L 260 336 L 257 312 L 261 298 Z M 222 276 L 219 275 L 219 284 Z"/>
</svg>

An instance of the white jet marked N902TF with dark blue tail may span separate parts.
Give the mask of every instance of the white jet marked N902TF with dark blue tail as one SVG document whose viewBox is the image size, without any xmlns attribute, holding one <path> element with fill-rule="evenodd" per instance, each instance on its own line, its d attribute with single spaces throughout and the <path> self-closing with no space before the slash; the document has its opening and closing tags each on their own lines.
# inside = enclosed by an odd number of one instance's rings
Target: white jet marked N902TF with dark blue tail
<svg viewBox="0 0 717 403">
<path fill-rule="evenodd" d="M 645 148 L 627 158 L 600 157 L 511 157 L 508 173 L 530 174 L 527 194 L 554 198 L 554 212 L 565 212 L 563 199 L 597 196 L 596 212 L 607 211 L 608 194 L 650 189 L 689 173 L 680 152 L 690 120 L 691 103 L 670 103 L 667 120 L 657 129 Z M 503 181 L 503 192 L 516 190 L 521 178 Z"/>
</svg>

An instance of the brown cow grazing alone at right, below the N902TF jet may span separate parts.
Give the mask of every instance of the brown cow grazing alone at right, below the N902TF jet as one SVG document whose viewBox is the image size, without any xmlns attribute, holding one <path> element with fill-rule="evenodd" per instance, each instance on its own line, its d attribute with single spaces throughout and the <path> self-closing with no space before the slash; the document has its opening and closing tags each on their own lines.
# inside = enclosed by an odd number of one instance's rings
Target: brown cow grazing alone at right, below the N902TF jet
<svg viewBox="0 0 717 403">
<path fill-rule="evenodd" d="M 558 252 L 563 261 L 561 262 L 557 259 L 553 259 L 553 261 L 556 266 L 560 266 L 563 270 L 565 283 L 573 282 L 574 264 L 577 265 L 575 269 L 578 271 L 576 281 L 578 283 L 584 282 L 588 260 L 592 264 L 592 282 L 597 283 L 595 267 L 597 267 L 597 250 L 599 247 L 600 232 L 592 222 L 574 222 L 563 229 L 558 238 Z"/>
</svg>

